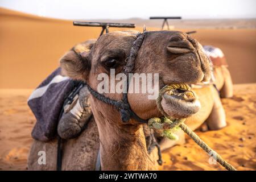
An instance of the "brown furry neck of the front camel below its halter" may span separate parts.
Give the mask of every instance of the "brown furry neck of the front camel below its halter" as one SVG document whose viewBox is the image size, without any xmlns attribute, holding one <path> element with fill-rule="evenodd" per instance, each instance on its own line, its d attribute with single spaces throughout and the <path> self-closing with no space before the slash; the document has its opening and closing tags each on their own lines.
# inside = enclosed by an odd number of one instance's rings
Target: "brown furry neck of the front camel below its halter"
<svg viewBox="0 0 256 182">
<path fill-rule="evenodd" d="M 150 160 L 143 126 L 120 124 L 118 112 L 109 107 L 92 104 L 92 110 L 100 134 L 102 170 L 147 170 Z"/>
</svg>

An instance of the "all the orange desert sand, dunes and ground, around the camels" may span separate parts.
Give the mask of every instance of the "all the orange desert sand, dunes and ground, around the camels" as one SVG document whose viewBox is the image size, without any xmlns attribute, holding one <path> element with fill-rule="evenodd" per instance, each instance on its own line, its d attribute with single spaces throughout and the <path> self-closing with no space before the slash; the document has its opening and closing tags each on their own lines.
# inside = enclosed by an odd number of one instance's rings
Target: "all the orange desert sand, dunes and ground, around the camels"
<svg viewBox="0 0 256 182">
<path fill-rule="evenodd" d="M 136 22 L 134 22 L 136 23 Z M 196 24 L 196 22 L 195 22 Z M 191 24 L 189 25 L 191 26 Z M 193 27 L 193 26 L 192 26 Z M 196 27 L 196 26 L 195 26 Z M 127 28 L 111 28 L 127 30 Z M 137 30 L 142 31 L 138 27 Z M 159 28 L 148 28 L 159 30 Z M 189 29 L 179 29 L 191 31 Z M 239 170 L 256 169 L 256 30 L 195 28 L 202 44 L 220 47 L 235 84 L 234 97 L 223 99 L 228 126 L 197 134 Z M 42 18 L 0 9 L 0 170 L 26 169 L 35 117 L 27 98 L 76 43 L 97 38 L 101 28 L 74 27 L 69 20 Z M 163 170 L 224 170 L 192 139 L 163 152 Z"/>
</svg>

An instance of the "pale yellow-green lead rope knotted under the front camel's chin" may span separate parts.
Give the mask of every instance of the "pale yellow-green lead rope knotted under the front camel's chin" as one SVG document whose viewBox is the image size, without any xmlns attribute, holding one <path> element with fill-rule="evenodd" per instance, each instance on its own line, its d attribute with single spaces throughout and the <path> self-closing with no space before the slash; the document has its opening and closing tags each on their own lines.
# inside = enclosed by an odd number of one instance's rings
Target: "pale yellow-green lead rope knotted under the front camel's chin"
<svg viewBox="0 0 256 182">
<path fill-rule="evenodd" d="M 166 112 L 163 110 L 160 102 L 162 101 L 162 95 L 166 87 L 160 90 L 158 99 L 156 100 L 156 104 L 161 113 L 165 116 L 164 118 L 151 118 L 148 121 L 148 126 L 152 129 L 155 129 L 162 136 L 167 137 L 171 140 L 179 139 L 177 135 L 174 134 L 175 131 L 182 129 L 186 134 L 189 135 L 205 152 L 208 154 L 212 154 L 214 159 L 221 164 L 221 166 L 225 167 L 229 171 L 236 171 L 231 164 L 227 163 L 221 156 L 212 150 L 198 135 L 196 135 L 187 125 L 185 125 L 185 119 L 171 119 Z M 210 153 L 209 153 L 210 152 Z"/>
</svg>

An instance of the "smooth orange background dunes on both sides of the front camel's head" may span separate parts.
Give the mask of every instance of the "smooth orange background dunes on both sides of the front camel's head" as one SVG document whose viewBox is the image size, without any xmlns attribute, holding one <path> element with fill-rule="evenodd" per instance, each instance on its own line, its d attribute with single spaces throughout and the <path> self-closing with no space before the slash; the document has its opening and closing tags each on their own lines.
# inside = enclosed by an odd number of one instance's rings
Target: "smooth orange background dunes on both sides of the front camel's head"
<svg viewBox="0 0 256 182">
<path fill-rule="evenodd" d="M 137 29 L 142 31 L 140 27 Z M 183 29 L 187 30 L 191 29 Z M 0 9 L 0 88 L 35 88 L 59 65 L 58 60 L 68 49 L 86 39 L 97 38 L 100 31 L 98 27 L 73 26 L 69 20 Z M 197 31 L 193 36 L 202 44 L 224 51 L 234 83 L 256 82 L 255 29 Z"/>
</svg>

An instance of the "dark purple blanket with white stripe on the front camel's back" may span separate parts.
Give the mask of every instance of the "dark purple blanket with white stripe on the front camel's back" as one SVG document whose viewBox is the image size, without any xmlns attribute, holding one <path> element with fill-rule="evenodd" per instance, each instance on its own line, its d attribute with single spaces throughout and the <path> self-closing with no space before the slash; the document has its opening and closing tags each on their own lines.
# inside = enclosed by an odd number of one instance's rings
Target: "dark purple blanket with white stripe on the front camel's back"
<svg viewBox="0 0 256 182">
<path fill-rule="evenodd" d="M 40 141 L 48 141 L 56 135 L 57 123 L 65 98 L 72 92 L 74 82 L 61 76 L 57 68 L 28 98 L 28 106 L 36 118 L 32 137 Z"/>
</svg>

